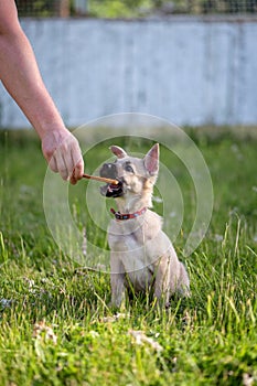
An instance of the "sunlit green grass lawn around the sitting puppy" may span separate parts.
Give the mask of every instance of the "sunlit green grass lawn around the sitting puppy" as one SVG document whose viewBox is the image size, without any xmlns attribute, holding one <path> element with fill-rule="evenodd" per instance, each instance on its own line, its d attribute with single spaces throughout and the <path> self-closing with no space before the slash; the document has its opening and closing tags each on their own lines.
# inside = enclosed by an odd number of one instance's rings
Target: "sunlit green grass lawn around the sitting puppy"
<svg viewBox="0 0 257 386">
<path fill-rule="evenodd" d="M 257 385 L 257 140 L 226 130 L 191 135 L 214 187 L 207 234 L 181 257 L 192 297 L 172 300 L 168 311 L 133 297 L 116 313 L 108 308 L 109 276 L 79 267 L 49 232 L 38 139 L 0 133 L 0 385 Z M 175 243 L 180 254 L 194 192 L 181 162 L 161 151 L 189 213 Z M 106 154 L 103 144 L 88 152 L 87 171 Z M 69 187 L 73 213 L 103 246 L 85 186 Z"/>
</svg>

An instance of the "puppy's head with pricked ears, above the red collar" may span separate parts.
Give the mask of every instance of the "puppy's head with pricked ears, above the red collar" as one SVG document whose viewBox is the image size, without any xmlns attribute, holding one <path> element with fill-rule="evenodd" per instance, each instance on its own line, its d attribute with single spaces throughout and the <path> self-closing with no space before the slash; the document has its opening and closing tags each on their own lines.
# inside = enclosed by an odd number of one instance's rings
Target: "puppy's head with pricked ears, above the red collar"
<svg viewBox="0 0 257 386">
<path fill-rule="evenodd" d="M 118 180 L 118 185 L 101 186 L 100 193 L 107 197 L 122 197 L 124 200 L 148 195 L 151 202 L 153 185 L 159 170 L 159 143 L 156 143 L 142 158 L 129 157 L 117 146 L 110 150 L 117 157 L 113 163 L 105 163 L 100 169 L 100 176 Z"/>
</svg>

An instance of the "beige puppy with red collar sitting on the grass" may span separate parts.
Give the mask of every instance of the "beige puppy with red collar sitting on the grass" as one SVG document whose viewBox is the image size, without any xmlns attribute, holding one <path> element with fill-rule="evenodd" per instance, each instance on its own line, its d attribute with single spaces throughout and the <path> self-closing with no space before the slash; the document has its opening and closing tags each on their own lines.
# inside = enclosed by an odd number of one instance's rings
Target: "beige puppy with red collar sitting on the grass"
<svg viewBox="0 0 257 386">
<path fill-rule="evenodd" d="M 101 194 L 115 197 L 118 211 L 108 228 L 111 271 L 111 304 L 119 307 L 128 287 L 135 291 L 153 288 L 158 301 L 169 304 L 170 296 L 190 294 L 186 270 L 162 230 L 162 219 L 152 206 L 152 191 L 159 171 L 159 144 L 143 159 L 129 157 L 117 146 L 117 157 L 105 163 L 100 175 L 117 179 L 118 185 L 101 186 Z"/>
</svg>

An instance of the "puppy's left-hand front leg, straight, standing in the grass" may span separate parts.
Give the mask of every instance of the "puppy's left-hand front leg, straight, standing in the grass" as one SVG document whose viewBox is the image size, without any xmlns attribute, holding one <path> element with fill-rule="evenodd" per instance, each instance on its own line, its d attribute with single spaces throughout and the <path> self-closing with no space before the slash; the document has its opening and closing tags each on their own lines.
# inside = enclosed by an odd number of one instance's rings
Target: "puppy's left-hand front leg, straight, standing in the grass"
<svg viewBox="0 0 257 386">
<path fill-rule="evenodd" d="M 110 305 L 119 308 L 125 299 L 125 271 L 117 253 L 110 253 Z"/>
</svg>

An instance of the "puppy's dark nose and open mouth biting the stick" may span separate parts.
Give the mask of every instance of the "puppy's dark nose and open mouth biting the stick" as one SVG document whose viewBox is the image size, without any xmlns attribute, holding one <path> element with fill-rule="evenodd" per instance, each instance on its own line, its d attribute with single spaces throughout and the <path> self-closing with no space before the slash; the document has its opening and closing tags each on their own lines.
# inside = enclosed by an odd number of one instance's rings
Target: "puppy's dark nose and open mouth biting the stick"
<svg viewBox="0 0 257 386">
<path fill-rule="evenodd" d="M 100 176 L 119 181 L 116 164 L 104 163 L 104 165 L 100 169 Z M 106 184 L 101 186 L 100 194 L 105 195 L 106 197 L 120 197 L 124 194 L 122 181 L 119 181 L 117 185 Z"/>
</svg>

